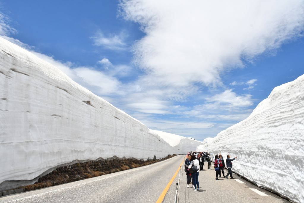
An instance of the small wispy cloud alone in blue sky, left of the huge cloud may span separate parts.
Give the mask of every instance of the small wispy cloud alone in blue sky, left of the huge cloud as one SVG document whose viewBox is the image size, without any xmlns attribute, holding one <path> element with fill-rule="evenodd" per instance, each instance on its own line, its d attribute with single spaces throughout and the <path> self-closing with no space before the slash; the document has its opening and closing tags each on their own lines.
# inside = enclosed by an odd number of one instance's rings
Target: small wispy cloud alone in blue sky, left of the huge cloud
<svg viewBox="0 0 304 203">
<path fill-rule="evenodd" d="M 110 34 L 109 37 L 98 31 L 94 37 L 91 37 L 95 46 L 101 46 L 110 50 L 124 50 L 126 49 L 126 43 L 124 42 L 127 35 L 122 32 L 119 35 Z"/>
</svg>

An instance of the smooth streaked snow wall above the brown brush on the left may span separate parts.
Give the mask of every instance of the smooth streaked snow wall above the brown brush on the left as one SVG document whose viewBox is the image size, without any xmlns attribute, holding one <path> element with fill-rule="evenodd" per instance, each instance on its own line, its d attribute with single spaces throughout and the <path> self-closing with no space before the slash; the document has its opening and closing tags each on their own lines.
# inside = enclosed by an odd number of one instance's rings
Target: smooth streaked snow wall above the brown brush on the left
<svg viewBox="0 0 304 203">
<path fill-rule="evenodd" d="M 150 130 L 0 37 L 0 191 L 32 184 L 75 160 L 163 158 L 201 143 Z"/>
</svg>

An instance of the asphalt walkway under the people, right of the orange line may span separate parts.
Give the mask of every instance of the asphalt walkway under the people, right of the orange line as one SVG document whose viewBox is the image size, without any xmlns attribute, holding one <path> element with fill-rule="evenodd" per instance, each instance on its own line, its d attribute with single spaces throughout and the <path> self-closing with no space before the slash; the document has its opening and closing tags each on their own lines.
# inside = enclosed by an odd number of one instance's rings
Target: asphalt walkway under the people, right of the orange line
<svg viewBox="0 0 304 203">
<path fill-rule="evenodd" d="M 290 203 L 274 193 L 257 187 L 235 173 L 233 173 L 234 179 L 230 179 L 230 177 L 229 179 L 225 179 L 222 174 L 219 180 L 215 180 L 216 172 L 213 163 L 211 164 L 210 170 L 207 169 L 207 165 L 207 162 L 205 162 L 203 171 L 199 171 L 200 191 L 194 191 L 194 189 L 191 188 L 192 184 L 189 184 L 189 188 L 186 187 L 186 174 L 184 168 L 181 169 L 178 202 Z M 228 170 L 225 169 L 224 172 L 226 175 Z M 178 176 L 171 184 L 163 202 L 174 202 L 177 182 Z"/>
</svg>

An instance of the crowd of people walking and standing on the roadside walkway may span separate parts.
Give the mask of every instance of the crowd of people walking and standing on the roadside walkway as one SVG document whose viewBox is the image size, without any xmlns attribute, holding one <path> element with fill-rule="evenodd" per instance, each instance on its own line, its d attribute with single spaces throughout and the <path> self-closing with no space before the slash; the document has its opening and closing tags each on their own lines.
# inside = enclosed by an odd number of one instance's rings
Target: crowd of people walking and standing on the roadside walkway
<svg viewBox="0 0 304 203">
<path fill-rule="evenodd" d="M 226 167 L 228 169 L 228 173 L 225 176 L 224 173 L 224 167 L 225 167 L 225 161 L 221 154 L 217 154 L 214 157 L 214 169 L 216 171 L 216 180 L 219 180 L 219 177 L 221 177 L 221 173 L 223 173 L 223 178 L 228 179 L 228 176 L 230 175 L 230 179 L 233 179 L 232 177 L 232 161 L 236 159 L 234 157 L 233 159 L 230 159 L 230 155 L 227 155 L 226 159 Z M 185 160 L 185 172 L 187 175 L 187 187 L 190 187 L 189 184 L 192 183 L 192 187 L 194 188 L 194 191 L 199 191 L 199 171 L 203 170 L 204 163 L 208 163 L 208 170 L 211 169 L 211 162 L 212 162 L 212 156 L 209 152 L 188 152 L 186 160 Z"/>
</svg>

